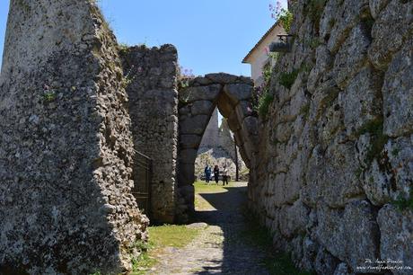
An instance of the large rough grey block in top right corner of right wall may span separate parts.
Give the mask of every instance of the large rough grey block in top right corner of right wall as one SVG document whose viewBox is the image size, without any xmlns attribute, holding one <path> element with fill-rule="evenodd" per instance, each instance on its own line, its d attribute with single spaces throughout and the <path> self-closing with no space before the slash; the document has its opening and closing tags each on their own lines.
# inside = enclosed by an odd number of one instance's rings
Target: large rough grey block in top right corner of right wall
<svg viewBox="0 0 413 275">
<path fill-rule="evenodd" d="M 368 51 L 374 67 L 385 69 L 391 56 L 411 38 L 412 9 L 411 1 L 391 1 L 377 15 L 372 29 L 373 43 Z"/>
</svg>

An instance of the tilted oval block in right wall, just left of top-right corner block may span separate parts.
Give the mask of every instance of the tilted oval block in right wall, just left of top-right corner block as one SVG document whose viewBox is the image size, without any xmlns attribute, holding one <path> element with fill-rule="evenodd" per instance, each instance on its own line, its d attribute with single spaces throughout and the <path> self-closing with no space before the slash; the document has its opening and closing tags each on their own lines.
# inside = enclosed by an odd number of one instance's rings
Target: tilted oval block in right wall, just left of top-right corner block
<svg viewBox="0 0 413 275">
<path fill-rule="evenodd" d="M 338 49 L 334 60 L 333 73 L 338 87 L 344 88 L 348 81 L 363 67 L 369 45 L 369 34 L 365 32 L 361 24 L 357 24 L 350 31 L 347 40 Z M 352 82 L 354 81 L 352 80 Z"/>
</svg>

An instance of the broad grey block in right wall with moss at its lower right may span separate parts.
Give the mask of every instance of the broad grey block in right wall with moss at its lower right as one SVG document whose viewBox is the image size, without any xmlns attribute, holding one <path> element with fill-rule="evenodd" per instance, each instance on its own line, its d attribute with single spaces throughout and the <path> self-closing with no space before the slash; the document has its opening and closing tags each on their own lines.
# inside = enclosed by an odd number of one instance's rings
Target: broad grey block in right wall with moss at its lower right
<svg viewBox="0 0 413 275">
<path fill-rule="evenodd" d="M 380 78 L 366 67 L 356 75 L 343 93 L 338 94 L 338 104 L 343 109 L 347 135 L 355 135 L 369 121 L 381 114 L 382 100 L 378 96 Z"/>
</svg>

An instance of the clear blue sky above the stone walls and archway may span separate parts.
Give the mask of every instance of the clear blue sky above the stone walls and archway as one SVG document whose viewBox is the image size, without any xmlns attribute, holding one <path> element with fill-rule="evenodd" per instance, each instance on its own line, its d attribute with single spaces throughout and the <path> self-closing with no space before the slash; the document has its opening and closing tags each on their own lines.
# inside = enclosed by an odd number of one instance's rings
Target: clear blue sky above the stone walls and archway
<svg viewBox="0 0 413 275">
<path fill-rule="evenodd" d="M 180 65 L 194 75 L 250 75 L 244 58 L 274 20 L 275 0 L 100 0 L 119 42 L 178 49 Z M 286 2 L 286 1 L 285 1 Z M 0 54 L 9 0 L 0 1 Z"/>
</svg>

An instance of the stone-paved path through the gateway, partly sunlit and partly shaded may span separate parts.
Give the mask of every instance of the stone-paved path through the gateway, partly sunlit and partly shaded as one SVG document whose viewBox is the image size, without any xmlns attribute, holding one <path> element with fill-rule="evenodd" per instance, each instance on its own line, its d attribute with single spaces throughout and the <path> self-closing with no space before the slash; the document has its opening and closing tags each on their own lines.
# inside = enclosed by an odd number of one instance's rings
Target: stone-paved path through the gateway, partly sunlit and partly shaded
<svg viewBox="0 0 413 275">
<path fill-rule="evenodd" d="M 186 247 L 164 249 L 149 274 L 269 274 L 265 253 L 244 240 L 246 186 L 237 182 L 224 192 L 198 194 L 208 202 L 201 203 L 198 221 L 208 226 Z"/>
</svg>

